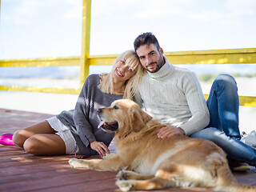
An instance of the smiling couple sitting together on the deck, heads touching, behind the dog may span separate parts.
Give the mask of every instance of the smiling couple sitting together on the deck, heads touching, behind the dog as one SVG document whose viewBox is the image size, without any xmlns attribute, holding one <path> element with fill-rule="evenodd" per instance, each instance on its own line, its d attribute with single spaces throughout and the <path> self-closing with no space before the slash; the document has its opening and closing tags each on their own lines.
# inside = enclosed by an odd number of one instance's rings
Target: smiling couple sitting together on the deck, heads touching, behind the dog
<svg viewBox="0 0 256 192">
<path fill-rule="evenodd" d="M 206 101 L 196 75 L 171 65 L 152 33 L 139 35 L 134 50 L 120 54 L 110 74 L 86 78 L 74 110 L 18 130 L 13 141 L 36 155 L 105 156 L 114 134 L 98 129 L 97 110 L 121 98 L 134 100 L 166 124 L 158 131 L 159 139 L 177 134 L 208 139 L 226 152 L 230 163 L 238 162 L 234 169 L 256 166 L 256 149 L 240 141 L 234 78 L 218 75 Z"/>
</svg>

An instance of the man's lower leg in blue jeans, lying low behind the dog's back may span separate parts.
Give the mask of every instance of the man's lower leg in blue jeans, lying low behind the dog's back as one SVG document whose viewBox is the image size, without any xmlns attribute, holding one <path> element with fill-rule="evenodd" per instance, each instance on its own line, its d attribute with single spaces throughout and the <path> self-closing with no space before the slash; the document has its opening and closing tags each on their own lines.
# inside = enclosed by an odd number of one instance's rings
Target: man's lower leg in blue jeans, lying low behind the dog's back
<svg viewBox="0 0 256 192">
<path fill-rule="evenodd" d="M 236 161 L 246 162 L 251 166 L 256 166 L 256 149 L 235 138 L 230 138 L 222 130 L 208 127 L 204 130 L 190 135 L 191 138 L 204 138 L 214 142 L 226 152 L 229 158 Z"/>
</svg>

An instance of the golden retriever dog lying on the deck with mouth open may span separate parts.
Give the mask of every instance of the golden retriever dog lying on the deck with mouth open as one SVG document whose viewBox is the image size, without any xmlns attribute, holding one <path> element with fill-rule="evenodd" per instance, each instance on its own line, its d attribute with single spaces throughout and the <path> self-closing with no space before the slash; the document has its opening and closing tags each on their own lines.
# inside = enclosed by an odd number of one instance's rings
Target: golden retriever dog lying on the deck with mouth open
<svg viewBox="0 0 256 192">
<path fill-rule="evenodd" d="M 175 135 L 158 138 L 165 126 L 130 100 L 121 99 L 98 110 L 102 129 L 115 133 L 117 154 L 103 159 L 71 158 L 70 166 L 116 171 L 122 191 L 155 190 L 170 186 L 208 187 L 216 191 L 256 191 L 238 184 L 226 154 L 213 142 Z"/>
</svg>

